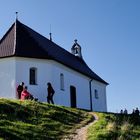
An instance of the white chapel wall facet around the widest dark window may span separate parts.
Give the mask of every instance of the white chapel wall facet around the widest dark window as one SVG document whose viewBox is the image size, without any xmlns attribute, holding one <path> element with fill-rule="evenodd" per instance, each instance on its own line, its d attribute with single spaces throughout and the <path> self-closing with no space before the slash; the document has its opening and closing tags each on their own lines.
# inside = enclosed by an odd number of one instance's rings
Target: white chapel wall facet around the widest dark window
<svg viewBox="0 0 140 140">
<path fill-rule="evenodd" d="M 29 70 L 37 68 L 37 84 L 30 85 Z M 40 101 L 46 101 L 47 97 L 47 82 L 52 81 L 51 64 L 45 60 L 31 58 L 16 58 L 16 85 L 21 82 L 25 83 L 28 91 L 38 98 Z"/>
</svg>

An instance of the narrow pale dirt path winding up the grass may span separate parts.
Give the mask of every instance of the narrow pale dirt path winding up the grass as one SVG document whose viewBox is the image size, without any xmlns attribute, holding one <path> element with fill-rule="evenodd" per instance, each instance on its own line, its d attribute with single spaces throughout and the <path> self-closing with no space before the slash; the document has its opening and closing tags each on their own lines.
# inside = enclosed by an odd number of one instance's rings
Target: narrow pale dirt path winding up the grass
<svg viewBox="0 0 140 140">
<path fill-rule="evenodd" d="M 95 113 L 90 112 L 90 114 L 93 115 L 94 121 L 87 124 L 86 126 L 80 128 L 80 129 L 77 129 L 76 132 L 75 132 L 76 135 L 74 135 L 72 138 L 66 139 L 66 140 L 86 140 L 87 139 L 87 129 L 88 129 L 88 127 L 91 126 L 92 124 L 94 124 L 98 120 L 98 116 Z"/>
</svg>

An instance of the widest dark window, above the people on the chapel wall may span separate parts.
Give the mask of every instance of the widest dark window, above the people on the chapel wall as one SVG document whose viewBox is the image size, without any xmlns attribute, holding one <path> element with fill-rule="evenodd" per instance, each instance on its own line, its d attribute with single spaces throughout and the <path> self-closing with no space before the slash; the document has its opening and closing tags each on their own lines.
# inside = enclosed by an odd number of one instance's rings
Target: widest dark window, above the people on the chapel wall
<svg viewBox="0 0 140 140">
<path fill-rule="evenodd" d="M 37 84 L 37 68 L 30 68 L 29 71 L 29 83 L 30 85 L 36 85 Z"/>
</svg>

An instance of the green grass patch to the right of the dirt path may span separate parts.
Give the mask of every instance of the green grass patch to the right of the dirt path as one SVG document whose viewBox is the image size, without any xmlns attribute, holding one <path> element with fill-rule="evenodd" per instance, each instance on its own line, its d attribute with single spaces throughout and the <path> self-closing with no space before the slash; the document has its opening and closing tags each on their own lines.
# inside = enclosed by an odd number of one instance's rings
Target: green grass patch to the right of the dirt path
<svg viewBox="0 0 140 140">
<path fill-rule="evenodd" d="M 98 122 L 88 128 L 88 140 L 140 140 L 140 116 L 97 113 Z"/>
</svg>

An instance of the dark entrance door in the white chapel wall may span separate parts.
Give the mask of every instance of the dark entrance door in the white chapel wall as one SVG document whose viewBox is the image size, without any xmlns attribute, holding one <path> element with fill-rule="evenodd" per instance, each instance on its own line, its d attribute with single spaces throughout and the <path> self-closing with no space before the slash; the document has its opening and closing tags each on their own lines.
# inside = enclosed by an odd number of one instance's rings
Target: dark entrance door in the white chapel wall
<svg viewBox="0 0 140 140">
<path fill-rule="evenodd" d="M 70 86 L 70 103 L 71 107 L 76 108 L 76 88 L 74 86 Z"/>
</svg>

